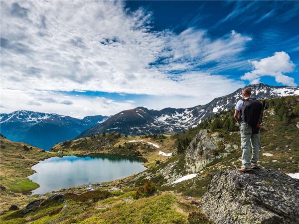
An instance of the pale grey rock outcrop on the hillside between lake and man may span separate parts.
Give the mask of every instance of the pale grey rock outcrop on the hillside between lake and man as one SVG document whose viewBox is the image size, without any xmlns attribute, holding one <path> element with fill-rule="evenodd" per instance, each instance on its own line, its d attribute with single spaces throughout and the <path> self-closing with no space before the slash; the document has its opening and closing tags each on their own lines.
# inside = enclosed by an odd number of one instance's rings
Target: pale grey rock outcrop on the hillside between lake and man
<svg viewBox="0 0 299 224">
<path fill-rule="evenodd" d="M 200 130 L 186 150 L 186 171 L 196 173 L 214 159 L 224 158 L 238 148 L 237 145 L 224 144 L 218 133 L 210 134 L 206 129 Z"/>
</svg>

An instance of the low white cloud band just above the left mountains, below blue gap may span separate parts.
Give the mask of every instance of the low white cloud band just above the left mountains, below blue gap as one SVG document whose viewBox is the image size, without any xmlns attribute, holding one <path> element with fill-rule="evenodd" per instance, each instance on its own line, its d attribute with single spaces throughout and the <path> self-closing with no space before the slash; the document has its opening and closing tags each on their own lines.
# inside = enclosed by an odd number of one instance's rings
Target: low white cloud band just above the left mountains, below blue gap
<svg viewBox="0 0 299 224">
<path fill-rule="evenodd" d="M 1 112 L 8 113 L 15 109 L 23 109 L 78 118 L 98 114 L 112 115 L 135 107 L 133 102 L 117 102 L 104 97 L 66 96 L 48 91 L 30 92 L 9 89 L 2 91 L 2 104 L 4 107 L 1 108 Z"/>
</svg>

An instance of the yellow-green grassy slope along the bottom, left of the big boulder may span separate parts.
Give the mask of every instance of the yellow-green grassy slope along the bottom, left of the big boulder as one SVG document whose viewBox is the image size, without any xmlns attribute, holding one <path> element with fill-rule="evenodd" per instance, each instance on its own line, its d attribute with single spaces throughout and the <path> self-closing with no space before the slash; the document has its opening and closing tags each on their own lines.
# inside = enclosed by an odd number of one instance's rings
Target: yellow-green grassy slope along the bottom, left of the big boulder
<svg viewBox="0 0 299 224">
<path fill-rule="evenodd" d="M 41 207 L 25 215 L 20 211 L 8 212 L 1 217 L 1 223 L 184 224 L 190 211 L 200 214 L 196 206 L 173 194 L 157 194 L 138 200 L 133 200 L 133 195 L 134 191 L 107 194 L 96 190 L 81 195 L 69 193 L 64 200 L 47 200 Z"/>
</svg>

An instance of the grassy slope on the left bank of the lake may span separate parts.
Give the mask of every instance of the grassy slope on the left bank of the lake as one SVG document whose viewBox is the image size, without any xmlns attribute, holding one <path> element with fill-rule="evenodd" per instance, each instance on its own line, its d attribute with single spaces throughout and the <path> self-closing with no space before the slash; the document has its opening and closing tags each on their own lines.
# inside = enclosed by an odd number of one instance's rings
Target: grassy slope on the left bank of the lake
<svg viewBox="0 0 299 224">
<path fill-rule="evenodd" d="M 0 138 L 0 185 L 1 185 L 1 209 L 7 209 L 12 204 L 24 205 L 32 200 L 26 194 L 39 187 L 38 184 L 30 181 L 27 176 L 34 173 L 31 167 L 39 160 L 56 155 L 56 153 L 42 152 L 39 148 L 30 145 L 12 142 Z M 25 151 L 26 145 L 29 150 Z"/>
</svg>

